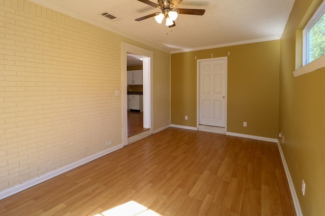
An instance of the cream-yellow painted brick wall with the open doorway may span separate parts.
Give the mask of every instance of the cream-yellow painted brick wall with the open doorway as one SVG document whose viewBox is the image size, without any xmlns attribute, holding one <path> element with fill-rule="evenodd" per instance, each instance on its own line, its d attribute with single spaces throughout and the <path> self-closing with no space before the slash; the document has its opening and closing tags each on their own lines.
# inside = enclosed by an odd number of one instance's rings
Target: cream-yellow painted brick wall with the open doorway
<svg viewBox="0 0 325 216">
<path fill-rule="evenodd" d="M 153 52 L 153 128 L 169 125 L 169 53 L 24 0 L 0 1 L 1 192 L 122 144 L 122 41 Z"/>
</svg>

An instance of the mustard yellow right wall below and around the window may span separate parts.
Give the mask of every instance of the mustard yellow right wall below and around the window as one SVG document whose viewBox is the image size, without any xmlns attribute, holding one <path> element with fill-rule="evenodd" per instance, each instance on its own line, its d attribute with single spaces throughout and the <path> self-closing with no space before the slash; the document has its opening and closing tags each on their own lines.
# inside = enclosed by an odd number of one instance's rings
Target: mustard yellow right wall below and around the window
<svg viewBox="0 0 325 216">
<path fill-rule="evenodd" d="M 314 11 L 321 2 L 296 0 L 281 37 L 279 131 L 284 143 L 279 142 L 304 215 L 325 215 L 325 68 L 294 77 L 295 36 L 308 8 Z"/>
</svg>

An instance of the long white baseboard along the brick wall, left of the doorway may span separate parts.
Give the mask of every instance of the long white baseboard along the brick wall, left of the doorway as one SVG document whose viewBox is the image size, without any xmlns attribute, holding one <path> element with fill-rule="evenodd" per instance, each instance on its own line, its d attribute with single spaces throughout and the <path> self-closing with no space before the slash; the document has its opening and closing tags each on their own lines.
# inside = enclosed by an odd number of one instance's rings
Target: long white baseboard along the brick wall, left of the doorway
<svg viewBox="0 0 325 216">
<path fill-rule="evenodd" d="M 85 163 L 88 163 L 88 162 L 90 162 L 92 160 L 103 157 L 104 155 L 112 153 L 112 152 L 114 152 L 114 151 L 116 151 L 116 150 L 118 150 L 120 148 L 123 148 L 122 144 L 118 145 L 118 146 L 114 146 L 114 147 L 112 147 L 110 149 L 107 149 L 105 151 L 93 154 L 93 155 L 91 155 L 89 157 L 83 158 L 83 159 L 81 159 L 79 161 L 76 161 L 74 163 L 71 163 L 71 164 L 69 164 L 67 166 L 63 166 L 61 168 L 58 168 L 58 169 L 56 169 L 54 171 L 51 171 L 51 172 L 49 172 L 49 173 L 47 173 L 47 174 L 45 174 L 45 175 L 43 175 L 41 177 L 38 177 L 36 179 L 30 180 L 28 182 L 25 182 L 25 183 L 22 183 L 20 185 L 14 186 L 14 187 L 9 188 L 7 190 L 1 191 L 0 192 L 0 200 L 4 199 L 6 197 L 9 197 L 11 195 L 14 195 L 14 194 L 16 194 L 18 192 L 21 192 L 23 190 L 26 190 L 27 188 L 30 188 L 32 186 L 38 185 L 38 184 L 40 184 L 42 182 L 45 182 L 45 181 L 47 181 L 49 179 L 52 179 L 52 178 L 54 178 L 54 177 L 56 177 L 58 175 L 63 174 L 64 172 L 67 172 L 67 171 L 69 171 L 71 169 L 74 169 L 74 168 L 76 168 L 78 166 L 81 166 L 81 165 L 83 165 Z"/>
</svg>

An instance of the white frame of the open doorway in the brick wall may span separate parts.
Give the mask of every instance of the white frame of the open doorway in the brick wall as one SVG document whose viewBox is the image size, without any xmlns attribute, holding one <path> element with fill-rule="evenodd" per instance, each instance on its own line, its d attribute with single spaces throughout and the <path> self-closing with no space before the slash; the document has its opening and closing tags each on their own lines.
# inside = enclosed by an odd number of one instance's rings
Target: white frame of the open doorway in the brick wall
<svg viewBox="0 0 325 216">
<path fill-rule="evenodd" d="M 122 42 L 122 142 L 127 145 L 127 53 L 143 57 L 143 122 L 153 134 L 153 52 Z"/>
</svg>

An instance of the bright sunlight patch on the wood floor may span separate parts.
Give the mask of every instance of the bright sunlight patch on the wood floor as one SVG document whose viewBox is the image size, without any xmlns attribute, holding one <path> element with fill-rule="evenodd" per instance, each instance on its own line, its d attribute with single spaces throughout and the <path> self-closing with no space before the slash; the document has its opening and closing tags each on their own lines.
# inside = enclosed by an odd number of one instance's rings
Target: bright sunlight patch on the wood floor
<svg viewBox="0 0 325 216">
<path fill-rule="evenodd" d="M 102 213 L 95 214 L 94 216 L 113 216 L 113 215 L 123 215 L 123 216 L 158 216 L 157 212 L 147 208 L 144 205 L 139 204 L 136 201 L 125 202 L 114 208 L 103 211 Z"/>
</svg>

